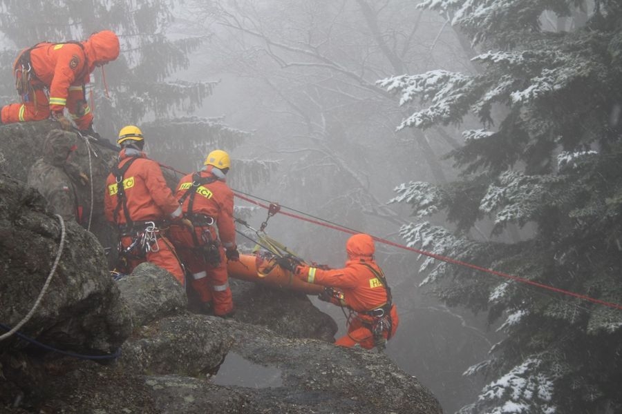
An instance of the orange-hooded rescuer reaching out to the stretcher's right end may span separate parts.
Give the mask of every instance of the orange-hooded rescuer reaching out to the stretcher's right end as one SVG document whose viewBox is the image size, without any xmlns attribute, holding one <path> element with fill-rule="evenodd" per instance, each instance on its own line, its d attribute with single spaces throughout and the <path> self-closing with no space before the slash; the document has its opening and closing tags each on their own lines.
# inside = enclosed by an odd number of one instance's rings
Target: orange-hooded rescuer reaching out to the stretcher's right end
<svg viewBox="0 0 622 414">
<path fill-rule="evenodd" d="M 296 266 L 283 259 L 279 264 L 305 282 L 326 286 L 319 299 L 350 309 L 348 333 L 337 339 L 336 345 L 383 349 L 395 334 L 399 319 L 386 277 L 374 260 L 374 240 L 366 234 L 353 235 L 346 252 L 346 267 L 341 269 Z"/>
</svg>

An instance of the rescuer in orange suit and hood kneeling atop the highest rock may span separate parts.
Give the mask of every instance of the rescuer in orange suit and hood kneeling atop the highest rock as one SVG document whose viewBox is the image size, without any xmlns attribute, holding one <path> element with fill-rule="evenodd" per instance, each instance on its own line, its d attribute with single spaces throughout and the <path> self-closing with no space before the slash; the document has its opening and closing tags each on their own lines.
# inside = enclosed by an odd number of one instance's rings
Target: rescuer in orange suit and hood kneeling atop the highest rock
<svg viewBox="0 0 622 414">
<path fill-rule="evenodd" d="M 15 86 L 21 103 L 2 108 L 1 124 L 41 121 L 50 115 L 62 128 L 77 128 L 93 132 L 93 113 L 88 107 L 84 87 L 91 72 L 119 56 L 119 39 L 114 32 L 102 30 L 91 34 L 86 41 L 37 43 L 21 50 L 15 61 Z"/>
</svg>

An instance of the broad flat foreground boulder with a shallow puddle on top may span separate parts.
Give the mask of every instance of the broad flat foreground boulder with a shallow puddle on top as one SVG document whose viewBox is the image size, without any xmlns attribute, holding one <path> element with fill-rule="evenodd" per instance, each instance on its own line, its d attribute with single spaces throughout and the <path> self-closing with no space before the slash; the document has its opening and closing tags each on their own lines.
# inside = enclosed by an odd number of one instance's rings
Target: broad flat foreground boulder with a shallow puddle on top
<svg viewBox="0 0 622 414">
<path fill-rule="evenodd" d="M 62 359 L 40 370 L 37 394 L 21 401 L 28 411 L 7 413 L 442 413 L 386 355 L 205 315 L 138 329 L 114 365 Z"/>
</svg>

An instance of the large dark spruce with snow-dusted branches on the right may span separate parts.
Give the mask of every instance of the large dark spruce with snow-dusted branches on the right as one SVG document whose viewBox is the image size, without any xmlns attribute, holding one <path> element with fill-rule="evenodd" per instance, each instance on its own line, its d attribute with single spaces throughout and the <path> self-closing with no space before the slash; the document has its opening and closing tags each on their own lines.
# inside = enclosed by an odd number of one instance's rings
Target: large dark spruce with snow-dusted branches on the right
<svg viewBox="0 0 622 414">
<path fill-rule="evenodd" d="M 579 4 L 581 3 L 581 4 Z M 399 128 L 461 124 L 451 157 L 462 179 L 410 182 L 394 201 L 413 206 L 410 246 L 603 302 L 622 304 L 622 6 L 596 0 L 583 28 L 540 29 L 543 12 L 572 15 L 582 1 L 426 0 L 484 52 L 478 75 L 442 70 L 379 83 L 420 98 Z M 584 9 L 585 10 L 585 9 Z M 494 113 L 493 108 L 502 108 Z M 424 221 L 446 213 L 453 230 Z M 493 236 L 532 224 L 516 244 L 467 238 L 481 219 Z M 620 413 L 622 309 L 514 279 L 426 259 L 424 283 L 449 305 L 487 311 L 507 337 L 467 374 L 490 382 L 460 413 Z"/>
</svg>

